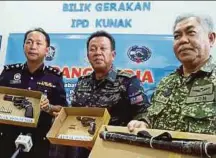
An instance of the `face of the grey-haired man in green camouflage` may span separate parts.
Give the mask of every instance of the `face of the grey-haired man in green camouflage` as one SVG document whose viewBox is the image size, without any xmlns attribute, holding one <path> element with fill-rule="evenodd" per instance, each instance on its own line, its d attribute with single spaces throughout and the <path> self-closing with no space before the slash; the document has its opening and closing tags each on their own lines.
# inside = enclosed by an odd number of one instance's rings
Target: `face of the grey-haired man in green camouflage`
<svg viewBox="0 0 216 158">
<path fill-rule="evenodd" d="M 183 65 L 205 61 L 213 43 L 214 35 L 208 33 L 194 17 L 180 21 L 174 29 L 173 48 Z"/>
</svg>

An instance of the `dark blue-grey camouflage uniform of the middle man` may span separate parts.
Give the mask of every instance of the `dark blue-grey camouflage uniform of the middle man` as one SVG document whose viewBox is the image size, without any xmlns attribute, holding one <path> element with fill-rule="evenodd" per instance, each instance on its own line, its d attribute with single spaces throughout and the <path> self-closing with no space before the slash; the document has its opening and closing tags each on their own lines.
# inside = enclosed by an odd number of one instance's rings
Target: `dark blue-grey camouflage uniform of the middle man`
<svg viewBox="0 0 216 158">
<path fill-rule="evenodd" d="M 132 119 L 141 119 L 149 102 L 135 75 L 111 69 L 101 81 L 95 79 L 94 73 L 80 77 L 72 106 L 107 108 L 110 124 L 125 126 Z"/>
</svg>

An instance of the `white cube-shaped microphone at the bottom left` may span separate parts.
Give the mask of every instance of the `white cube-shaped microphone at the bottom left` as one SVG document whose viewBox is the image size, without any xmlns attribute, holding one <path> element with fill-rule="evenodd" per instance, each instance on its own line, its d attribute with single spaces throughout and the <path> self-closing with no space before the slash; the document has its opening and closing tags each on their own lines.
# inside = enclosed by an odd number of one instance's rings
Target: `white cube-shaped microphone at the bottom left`
<svg viewBox="0 0 216 158">
<path fill-rule="evenodd" d="M 33 146 L 31 134 L 26 135 L 20 134 L 15 140 L 16 151 L 11 158 L 16 158 L 20 152 L 29 152 Z"/>
</svg>

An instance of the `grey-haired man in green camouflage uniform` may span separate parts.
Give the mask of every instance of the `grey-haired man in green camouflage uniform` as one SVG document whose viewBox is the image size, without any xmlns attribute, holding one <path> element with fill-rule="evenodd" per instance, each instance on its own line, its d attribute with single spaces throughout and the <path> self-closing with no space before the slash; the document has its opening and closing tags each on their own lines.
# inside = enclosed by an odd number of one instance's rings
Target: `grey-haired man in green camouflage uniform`
<svg viewBox="0 0 216 158">
<path fill-rule="evenodd" d="M 174 51 L 182 65 L 162 79 L 146 122 L 151 128 L 216 134 L 215 41 L 208 16 L 182 15 L 174 25 Z"/>
</svg>

